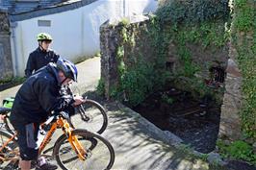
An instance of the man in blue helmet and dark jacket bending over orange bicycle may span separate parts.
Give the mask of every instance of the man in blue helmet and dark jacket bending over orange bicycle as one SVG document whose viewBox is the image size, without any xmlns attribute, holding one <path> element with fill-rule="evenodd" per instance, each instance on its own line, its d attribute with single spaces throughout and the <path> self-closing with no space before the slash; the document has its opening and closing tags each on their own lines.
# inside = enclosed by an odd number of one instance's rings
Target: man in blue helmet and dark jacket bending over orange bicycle
<svg viewBox="0 0 256 170">
<path fill-rule="evenodd" d="M 61 86 L 71 81 L 77 81 L 77 68 L 74 63 L 60 58 L 56 63 L 50 62 L 40 68 L 17 91 L 10 120 L 17 131 L 21 170 L 30 169 L 31 160 L 35 159 L 38 159 L 37 169 L 57 168 L 45 158 L 38 158 L 38 126 L 52 111 L 73 111 L 83 102 L 81 96 L 60 94 Z"/>
</svg>

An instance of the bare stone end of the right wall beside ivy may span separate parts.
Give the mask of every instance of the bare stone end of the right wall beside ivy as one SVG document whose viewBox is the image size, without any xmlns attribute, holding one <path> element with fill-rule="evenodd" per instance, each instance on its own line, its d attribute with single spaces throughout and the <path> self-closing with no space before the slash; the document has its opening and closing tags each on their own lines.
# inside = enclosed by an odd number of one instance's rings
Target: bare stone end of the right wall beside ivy
<svg viewBox="0 0 256 170">
<path fill-rule="evenodd" d="M 242 102 L 242 74 L 235 59 L 236 50 L 229 49 L 225 78 L 225 93 L 221 106 L 219 137 L 236 140 L 241 137 L 241 118 L 239 111 Z"/>
</svg>

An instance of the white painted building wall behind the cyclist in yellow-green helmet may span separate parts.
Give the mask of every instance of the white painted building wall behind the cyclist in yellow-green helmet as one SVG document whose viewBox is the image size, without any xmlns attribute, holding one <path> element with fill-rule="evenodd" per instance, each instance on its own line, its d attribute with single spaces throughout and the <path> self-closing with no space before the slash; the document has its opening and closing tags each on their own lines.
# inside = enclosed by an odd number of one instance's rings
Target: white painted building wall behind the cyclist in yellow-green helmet
<svg viewBox="0 0 256 170">
<path fill-rule="evenodd" d="M 38 47 L 36 36 L 40 32 L 53 36 L 51 48 L 58 54 L 76 61 L 99 52 L 99 27 L 106 20 L 156 9 L 156 0 L 98 0 L 72 11 L 18 21 L 12 33 L 15 35 L 12 38 L 14 72 L 17 76 L 24 75 L 28 56 Z M 50 20 L 51 26 L 38 27 L 38 20 Z"/>
</svg>

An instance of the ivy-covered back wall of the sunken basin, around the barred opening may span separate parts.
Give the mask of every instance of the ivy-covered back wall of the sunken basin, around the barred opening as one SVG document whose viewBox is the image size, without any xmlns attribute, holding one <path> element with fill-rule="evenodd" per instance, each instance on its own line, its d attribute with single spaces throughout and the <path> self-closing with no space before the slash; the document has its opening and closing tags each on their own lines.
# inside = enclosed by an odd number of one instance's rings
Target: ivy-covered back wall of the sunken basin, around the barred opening
<svg viewBox="0 0 256 170">
<path fill-rule="evenodd" d="M 221 103 L 223 87 L 209 88 L 211 67 L 226 67 L 227 0 L 162 1 L 156 13 L 163 28 L 163 55 L 174 61 L 172 82 L 194 96 L 211 95 Z"/>
</svg>

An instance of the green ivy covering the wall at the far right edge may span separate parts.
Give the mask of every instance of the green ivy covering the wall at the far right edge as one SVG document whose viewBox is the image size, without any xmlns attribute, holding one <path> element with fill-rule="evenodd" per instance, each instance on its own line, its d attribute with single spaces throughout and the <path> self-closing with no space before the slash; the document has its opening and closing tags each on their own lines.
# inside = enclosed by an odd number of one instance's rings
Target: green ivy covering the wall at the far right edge
<svg viewBox="0 0 256 170">
<path fill-rule="evenodd" d="M 243 75 L 243 133 L 256 140 L 256 6 L 251 1 L 235 0 L 232 41 Z"/>
</svg>

